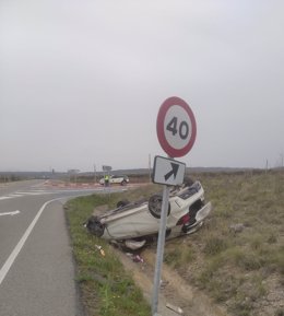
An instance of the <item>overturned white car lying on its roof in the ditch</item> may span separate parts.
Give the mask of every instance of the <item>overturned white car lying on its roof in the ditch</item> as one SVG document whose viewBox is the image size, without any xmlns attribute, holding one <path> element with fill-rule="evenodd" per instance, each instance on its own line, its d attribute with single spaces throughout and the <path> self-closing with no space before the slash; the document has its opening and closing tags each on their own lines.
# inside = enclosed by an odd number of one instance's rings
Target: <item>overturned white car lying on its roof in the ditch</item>
<svg viewBox="0 0 284 316">
<path fill-rule="evenodd" d="M 162 208 L 162 195 L 135 202 L 120 201 L 117 208 L 100 215 L 93 215 L 87 230 L 98 237 L 137 249 L 157 238 Z M 200 182 L 187 180 L 170 190 L 166 238 L 197 231 L 211 212 L 211 202 L 205 203 Z"/>
</svg>

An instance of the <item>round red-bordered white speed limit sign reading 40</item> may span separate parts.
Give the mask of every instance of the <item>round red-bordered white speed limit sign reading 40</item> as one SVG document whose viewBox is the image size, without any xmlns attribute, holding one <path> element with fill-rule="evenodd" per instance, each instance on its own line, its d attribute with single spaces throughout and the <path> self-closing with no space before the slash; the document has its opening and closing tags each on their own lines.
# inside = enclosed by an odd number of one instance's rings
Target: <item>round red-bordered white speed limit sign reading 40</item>
<svg viewBox="0 0 284 316">
<path fill-rule="evenodd" d="M 197 122 L 189 105 L 181 98 L 167 98 L 157 115 L 157 138 L 170 157 L 186 155 L 194 144 Z"/>
</svg>

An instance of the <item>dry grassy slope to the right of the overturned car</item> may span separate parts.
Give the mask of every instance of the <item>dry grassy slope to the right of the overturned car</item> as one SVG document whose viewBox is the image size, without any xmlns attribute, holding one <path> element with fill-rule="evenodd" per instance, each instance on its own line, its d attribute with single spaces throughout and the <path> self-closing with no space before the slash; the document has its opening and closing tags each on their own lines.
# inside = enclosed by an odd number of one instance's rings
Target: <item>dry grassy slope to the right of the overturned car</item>
<svg viewBox="0 0 284 316">
<path fill-rule="evenodd" d="M 200 174 L 194 178 L 201 180 L 214 209 L 203 229 L 184 241 L 184 248 L 175 247 L 180 241 L 167 245 L 166 261 L 234 316 L 281 315 L 284 174 Z"/>
</svg>

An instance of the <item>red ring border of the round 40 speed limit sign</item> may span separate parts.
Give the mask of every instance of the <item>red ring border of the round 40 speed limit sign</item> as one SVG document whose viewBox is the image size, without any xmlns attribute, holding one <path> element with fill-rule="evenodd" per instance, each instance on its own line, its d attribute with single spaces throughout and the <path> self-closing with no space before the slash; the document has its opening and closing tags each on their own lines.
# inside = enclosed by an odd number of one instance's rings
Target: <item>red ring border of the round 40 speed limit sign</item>
<svg viewBox="0 0 284 316">
<path fill-rule="evenodd" d="M 188 116 L 191 121 L 191 128 L 192 128 L 191 138 L 189 142 L 181 149 L 174 149 L 166 140 L 165 132 L 164 132 L 165 117 L 166 117 L 168 109 L 173 105 L 181 106 L 188 113 Z M 197 138 L 197 121 L 189 105 L 182 98 L 177 97 L 177 96 L 171 96 L 171 97 L 168 97 L 166 101 L 164 101 L 164 103 L 159 107 L 159 110 L 157 114 L 156 130 L 157 130 L 157 138 L 163 150 L 170 157 L 180 157 L 180 156 L 186 155 L 194 144 L 194 141 Z"/>
</svg>

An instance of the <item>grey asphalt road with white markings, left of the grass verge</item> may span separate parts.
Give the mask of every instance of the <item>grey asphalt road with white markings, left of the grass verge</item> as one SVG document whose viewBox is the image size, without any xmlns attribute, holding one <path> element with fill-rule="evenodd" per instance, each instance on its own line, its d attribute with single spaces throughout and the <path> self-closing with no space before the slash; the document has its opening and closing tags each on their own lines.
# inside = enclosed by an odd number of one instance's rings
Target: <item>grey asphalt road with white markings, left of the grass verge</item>
<svg viewBox="0 0 284 316">
<path fill-rule="evenodd" d="M 0 185 L 1 316 L 83 315 L 62 207 L 95 190 Z"/>
</svg>

